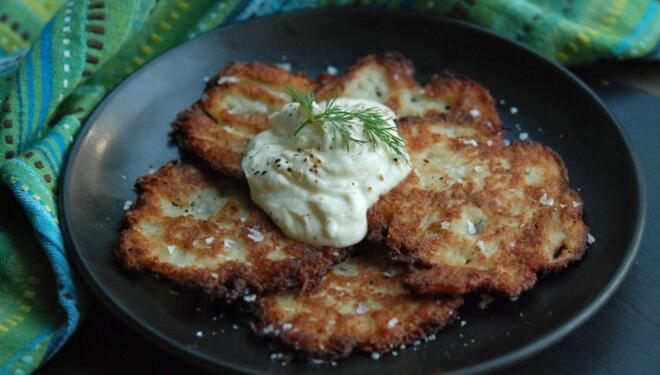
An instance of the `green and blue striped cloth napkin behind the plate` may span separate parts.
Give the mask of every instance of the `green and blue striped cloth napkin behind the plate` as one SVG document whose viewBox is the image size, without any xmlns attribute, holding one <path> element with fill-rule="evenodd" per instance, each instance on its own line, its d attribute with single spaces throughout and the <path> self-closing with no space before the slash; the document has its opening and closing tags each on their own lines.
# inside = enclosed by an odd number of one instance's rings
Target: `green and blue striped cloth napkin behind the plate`
<svg viewBox="0 0 660 375">
<path fill-rule="evenodd" d="M 220 24 L 349 1 L 0 1 L 0 375 L 74 332 L 86 299 L 62 242 L 57 182 L 81 123 L 121 80 Z M 566 65 L 657 56 L 655 0 L 359 1 L 468 19 Z"/>
</svg>

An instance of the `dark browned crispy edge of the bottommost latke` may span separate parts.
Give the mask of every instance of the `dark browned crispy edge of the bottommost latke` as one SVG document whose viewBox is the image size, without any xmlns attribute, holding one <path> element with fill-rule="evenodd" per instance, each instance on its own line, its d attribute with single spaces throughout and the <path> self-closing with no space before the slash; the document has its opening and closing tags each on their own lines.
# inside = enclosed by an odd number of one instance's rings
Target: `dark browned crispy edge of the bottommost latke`
<svg viewBox="0 0 660 375">
<path fill-rule="evenodd" d="M 374 244 L 367 243 L 363 247 L 370 248 L 366 251 L 368 255 L 362 253 L 358 256 L 384 256 L 383 254 L 378 254 L 379 252 L 374 250 Z M 360 250 L 357 250 L 356 252 L 360 252 Z M 314 288 L 300 291 L 300 293 L 313 293 L 315 288 L 321 287 L 322 282 L 323 281 L 315 285 Z M 415 296 L 415 294 L 411 295 Z M 247 320 L 247 325 L 250 327 L 253 334 L 258 339 L 268 343 L 271 349 L 285 352 L 293 359 L 301 361 L 312 359 L 338 360 L 346 358 L 356 352 L 362 354 L 370 354 L 374 352 L 385 354 L 392 350 L 396 350 L 402 345 L 408 346 L 416 341 L 427 340 L 429 336 L 437 334 L 456 319 L 458 316 L 458 309 L 464 302 L 461 296 L 433 297 L 428 295 L 416 295 L 415 298 L 442 300 L 444 303 L 442 314 L 435 315 L 433 319 L 428 322 L 414 326 L 414 329 L 410 330 L 405 335 L 398 337 L 396 340 L 381 339 L 377 335 L 374 340 L 368 340 L 366 342 L 360 342 L 360 340 L 354 337 L 340 337 L 336 340 L 332 340 L 334 345 L 325 349 L 320 349 L 314 344 L 315 337 L 313 334 L 293 335 L 292 330 L 289 330 L 287 331 L 287 335 L 290 337 L 285 339 L 281 335 L 282 332 L 274 332 L 273 334 L 264 333 L 264 328 L 268 325 L 273 325 L 275 322 L 269 320 L 267 314 L 264 313 L 266 310 L 264 304 L 267 301 L 264 301 L 264 298 L 261 296 L 257 297 L 257 299 L 251 303 L 240 302 L 238 308 L 240 311 L 250 316 Z M 399 324 L 405 325 L 405 321 L 399 321 Z"/>
</svg>

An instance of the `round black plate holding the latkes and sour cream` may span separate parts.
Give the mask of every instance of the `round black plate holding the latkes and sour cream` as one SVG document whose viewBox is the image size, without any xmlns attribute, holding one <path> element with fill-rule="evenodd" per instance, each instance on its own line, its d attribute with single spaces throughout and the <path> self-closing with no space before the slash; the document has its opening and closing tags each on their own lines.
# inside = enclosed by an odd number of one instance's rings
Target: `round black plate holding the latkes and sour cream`
<svg viewBox="0 0 660 375">
<path fill-rule="evenodd" d="M 488 309 L 477 297 L 434 342 L 379 361 L 356 355 L 330 365 L 270 360 L 243 327 L 214 319 L 189 296 L 114 262 L 133 182 L 178 157 L 169 124 L 202 93 L 204 77 L 231 60 L 286 62 L 311 75 L 343 69 L 368 53 L 400 51 L 420 79 L 444 69 L 489 88 L 512 135 L 519 124 L 566 162 L 571 185 L 586 202 L 597 238 L 582 262 L 542 279 L 518 301 Z M 511 106 L 519 109 L 512 115 Z M 326 9 L 261 18 L 223 27 L 175 48 L 133 74 L 106 98 L 78 136 L 62 182 L 61 212 L 69 251 L 92 289 L 131 326 L 197 364 L 245 372 L 438 373 L 492 369 L 558 341 L 600 308 L 624 277 L 641 237 L 644 188 L 620 126 L 567 70 L 483 29 L 442 18 L 382 9 Z M 200 311 L 197 311 L 200 310 Z M 203 331 L 204 337 L 195 333 Z M 215 332 L 215 335 L 213 335 Z M 119 355 L 120 353 L 115 353 Z"/>
</svg>

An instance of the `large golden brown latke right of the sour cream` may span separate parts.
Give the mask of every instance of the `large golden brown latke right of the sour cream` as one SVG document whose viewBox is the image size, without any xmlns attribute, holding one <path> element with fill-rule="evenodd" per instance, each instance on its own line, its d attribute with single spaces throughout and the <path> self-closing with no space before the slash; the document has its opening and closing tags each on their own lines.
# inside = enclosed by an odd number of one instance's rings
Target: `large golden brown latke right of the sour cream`
<svg viewBox="0 0 660 375">
<path fill-rule="evenodd" d="M 552 150 L 466 120 L 399 121 L 414 170 L 369 210 L 368 238 L 416 267 L 415 292 L 517 296 L 582 256 L 582 200 Z"/>
</svg>

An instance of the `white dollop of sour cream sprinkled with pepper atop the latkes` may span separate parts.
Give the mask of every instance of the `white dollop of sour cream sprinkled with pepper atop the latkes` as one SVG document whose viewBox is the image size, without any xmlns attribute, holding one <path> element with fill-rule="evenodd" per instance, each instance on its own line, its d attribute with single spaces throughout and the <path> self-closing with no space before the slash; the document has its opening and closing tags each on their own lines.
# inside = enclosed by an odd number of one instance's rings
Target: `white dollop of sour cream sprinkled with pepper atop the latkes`
<svg viewBox="0 0 660 375">
<path fill-rule="evenodd" d="M 314 103 L 312 113 L 326 105 Z M 334 105 L 376 108 L 394 126 L 394 113 L 380 103 L 338 98 Z M 354 245 L 367 234 L 369 207 L 411 168 L 386 145 L 366 142 L 358 120 L 346 126 L 365 143 L 350 142 L 347 150 L 332 124 L 308 124 L 294 135 L 306 119 L 298 103 L 289 103 L 271 115 L 270 129 L 252 139 L 241 162 L 250 195 L 290 238 L 320 246 Z"/>
</svg>

